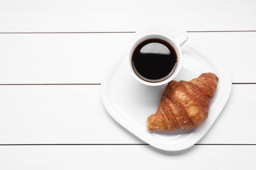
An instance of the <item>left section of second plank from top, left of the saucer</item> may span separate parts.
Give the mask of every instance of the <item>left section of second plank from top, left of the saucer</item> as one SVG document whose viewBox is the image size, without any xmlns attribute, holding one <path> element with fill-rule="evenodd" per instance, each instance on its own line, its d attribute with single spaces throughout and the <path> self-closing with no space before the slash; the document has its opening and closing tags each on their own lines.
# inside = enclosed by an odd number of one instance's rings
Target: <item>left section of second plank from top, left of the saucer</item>
<svg viewBox="0 0 256 170">
<path fill-rule="evenodd" d="M 0 34 L 0 83 L 100 83 L 131 34 Z"/>
</svg>

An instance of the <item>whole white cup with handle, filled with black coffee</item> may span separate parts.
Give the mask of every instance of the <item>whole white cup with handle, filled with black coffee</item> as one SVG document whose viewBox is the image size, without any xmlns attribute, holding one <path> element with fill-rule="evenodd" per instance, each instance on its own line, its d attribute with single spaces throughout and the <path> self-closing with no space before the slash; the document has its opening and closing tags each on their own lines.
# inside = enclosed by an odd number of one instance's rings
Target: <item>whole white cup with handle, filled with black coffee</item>
<svg viewBox="0 0 256 170">
<path fill-rule="evenodd" d="M 161 86 L 177 76 L 182 65 L 181 46 L 188 41 L 185 32 L 173 38 L 146 27 L 135 33 L 131 41 L 128 67 L 136 80 L 148 86 Z"/>
</svg>

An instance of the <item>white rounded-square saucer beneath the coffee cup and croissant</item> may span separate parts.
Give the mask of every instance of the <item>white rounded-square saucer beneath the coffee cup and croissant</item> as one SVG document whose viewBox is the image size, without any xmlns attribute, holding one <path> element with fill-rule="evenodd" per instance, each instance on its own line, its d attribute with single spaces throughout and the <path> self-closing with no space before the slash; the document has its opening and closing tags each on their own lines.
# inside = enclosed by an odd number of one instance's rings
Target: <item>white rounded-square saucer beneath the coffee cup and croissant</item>
<svg viewBox="0 0 256 170">
<path fill-rule="evenodd" d="M 181 33 L 179 29 L 171 26 L 151 27 L 156 32 L 165 33 L 174 38 Z M 117 56 L 102 81 L 102 102 L 112 118 L 142 141 L 161 150 L 184 150 L 202 139 L 221 113 L 231 92 L 232 80 L 225 61 L 211 48 L 194 37 L 189 37 L 190 39 L 182 46 L 184 63 L 175 80 L 190 80 L 207 72 L 215 73 L 219 77 L 217 92 L 211 101 L 209 117 L 198 129 L 169 133 L 152 133 L 146 129 L 146 120 L 158 109 L 160 97 L 166 85 L 146 86 L 140 84 L 129 73 L 127 49 L 132 40 Z"/>
</svg>

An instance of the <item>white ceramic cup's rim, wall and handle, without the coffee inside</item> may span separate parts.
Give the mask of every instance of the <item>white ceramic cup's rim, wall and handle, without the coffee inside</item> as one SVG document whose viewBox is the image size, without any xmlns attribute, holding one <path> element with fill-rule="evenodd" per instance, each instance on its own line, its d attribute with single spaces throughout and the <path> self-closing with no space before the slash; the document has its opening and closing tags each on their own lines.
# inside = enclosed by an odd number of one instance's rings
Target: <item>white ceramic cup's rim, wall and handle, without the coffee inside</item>
<svg viewBox="0 0 256 170">
<path fill-rule="evenodd" d="M 161 27 L 163 25 L 152 25 L 150 27 L 146 27 L 142 29 L 141 31 L 138 31 L 135 33 L 133 39 L 130 41 L 130 46 L 128 50 L 128 67 L 129 71 L 131 72 L 131 75 L 138 80 L 140 83 L 145 84 L 147 86 L 161 86 L 163 84 L 166 84 L 173 80 L 175 76 L 178 75 L 179 71 L 181 70 L 182 65 L 182 51 L 181 46 L 184 44 L 184 42 L 188 41 L 189 37 L 186 34 L 186 32 L 179 33 L 179 37 L 173 38 L 170 35 L 167 35 L 166 33 L 162 33 L 161 31 L 158 31 L 158 27 Z M 160 29 L 161 30 L 161 29 Z M 145 80 L 141 76 L 139 76 L 137 73 L 135 73 L 135 69 L 133 69 L 133 61 L 132 56 L 135 48 L 140 44 L 140 42 L 146 41 L 148 39 L 161 39 L 163 41 L 168 42 L 175 50 L 177 54 L 177 63 L 175 67 L 173 68 L 174 71 L 170 75 L 167 75 L 166 77 L 161 78 L 158 81 L 150 81 Z"/>
</svg>

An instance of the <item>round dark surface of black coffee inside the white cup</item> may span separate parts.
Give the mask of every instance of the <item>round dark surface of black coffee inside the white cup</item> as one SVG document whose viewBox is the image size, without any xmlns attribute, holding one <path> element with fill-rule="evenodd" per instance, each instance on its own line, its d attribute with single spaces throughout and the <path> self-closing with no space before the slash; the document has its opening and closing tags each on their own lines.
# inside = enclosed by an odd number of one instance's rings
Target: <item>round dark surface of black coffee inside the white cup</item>
<svg viewBox="0 0 256 170">
<path fill-rule="evenodd" d="M 177 54 L 169 42 L 162 39 L 147 39 L 133 51 L 132 65 L 143 80 L 159 82 L 173 74 Z"/>
</svg>

